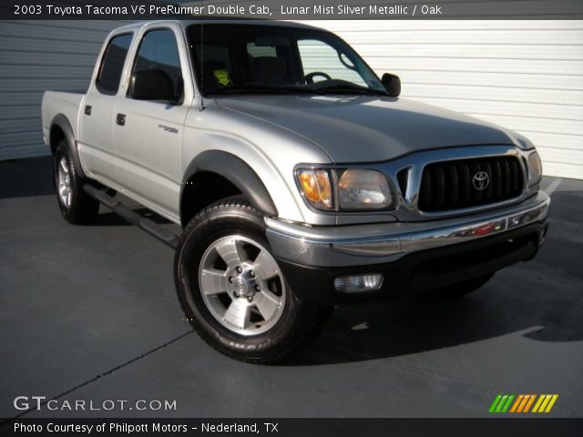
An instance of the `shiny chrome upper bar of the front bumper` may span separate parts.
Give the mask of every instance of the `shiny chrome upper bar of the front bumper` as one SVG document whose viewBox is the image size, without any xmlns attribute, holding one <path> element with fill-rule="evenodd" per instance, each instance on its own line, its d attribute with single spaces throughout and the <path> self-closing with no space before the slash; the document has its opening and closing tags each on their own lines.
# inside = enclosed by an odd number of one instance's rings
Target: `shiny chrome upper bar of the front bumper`
<svg viewBox="0 0 583 437">
<path fill-rule="evenodd" d="M 544 192 L 519 205 L 480 215 L 425 222 L 306 227 L 265 219 L 277 258 L 307 266 L 342 267 L 393 262 L 409 253 L 483 239 L 548 219 Z M 542 241 L 540 241 L 542 243 Z"/>
</svg>

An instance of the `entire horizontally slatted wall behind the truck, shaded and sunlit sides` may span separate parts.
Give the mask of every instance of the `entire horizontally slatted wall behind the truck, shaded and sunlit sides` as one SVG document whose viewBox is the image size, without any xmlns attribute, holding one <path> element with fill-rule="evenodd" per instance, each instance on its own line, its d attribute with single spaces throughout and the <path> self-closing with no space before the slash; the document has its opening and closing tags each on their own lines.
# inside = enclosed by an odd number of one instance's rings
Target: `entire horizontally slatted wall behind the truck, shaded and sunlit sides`
<svg viewBox="0 0 583 437">
<path fill-rule="evenodd" d="M 583 21 L 308 21 L 343 36 L 403 97 L 537 144 L 545 173 L 583 178 Z M 110 21 L 0 22 L 0 159 L 46 153 L 46 89 L 84 92 Z"/>
</svg>

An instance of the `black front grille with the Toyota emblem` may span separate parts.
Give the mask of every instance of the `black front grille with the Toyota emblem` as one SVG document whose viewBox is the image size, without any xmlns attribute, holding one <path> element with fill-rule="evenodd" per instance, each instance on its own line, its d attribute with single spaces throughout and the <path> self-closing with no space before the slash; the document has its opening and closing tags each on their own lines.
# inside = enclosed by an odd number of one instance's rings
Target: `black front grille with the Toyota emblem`
<svg viewBox="0 0 583 437">
<path fill-rule="evenodd" d="M 515 157 L 436 162 L 423 170 L 419 209 L 471 208 L 516 198 L 522 193 L 523 181 L 520 161 Z"/>
</svg>

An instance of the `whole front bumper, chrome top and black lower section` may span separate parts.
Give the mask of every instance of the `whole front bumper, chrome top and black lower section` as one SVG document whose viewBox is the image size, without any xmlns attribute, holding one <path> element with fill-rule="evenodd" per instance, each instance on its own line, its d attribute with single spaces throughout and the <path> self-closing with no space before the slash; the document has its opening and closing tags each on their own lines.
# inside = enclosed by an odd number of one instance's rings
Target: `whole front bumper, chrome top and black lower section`
<svg viewBox="0 0 583 437">
<path fill-rule="evenodd" d="M 513 207 L 426 222 L 310 228 L 266 219 L 266 235 L 302 299 L 394 299 L 532 259 L 547 233 L 549 204 L 539 192 Z M 337 276 L 368 273 L 383 273 L 380 290 L 342 293 L 333 287 Z"/>
</svg>

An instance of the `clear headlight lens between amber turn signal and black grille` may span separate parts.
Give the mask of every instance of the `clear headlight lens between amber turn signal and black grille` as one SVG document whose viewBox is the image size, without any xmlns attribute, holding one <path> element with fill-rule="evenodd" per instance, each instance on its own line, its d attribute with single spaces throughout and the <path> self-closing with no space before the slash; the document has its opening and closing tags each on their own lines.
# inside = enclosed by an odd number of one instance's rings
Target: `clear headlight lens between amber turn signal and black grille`
<svg viewBox="0 0 583 437">
<path fill-rule="evenodd" d="M 339 176 L 340 209 L 386 209 L 393 204 L 391 188 L 383 173 L 348 169 Z"/>
</svg>

